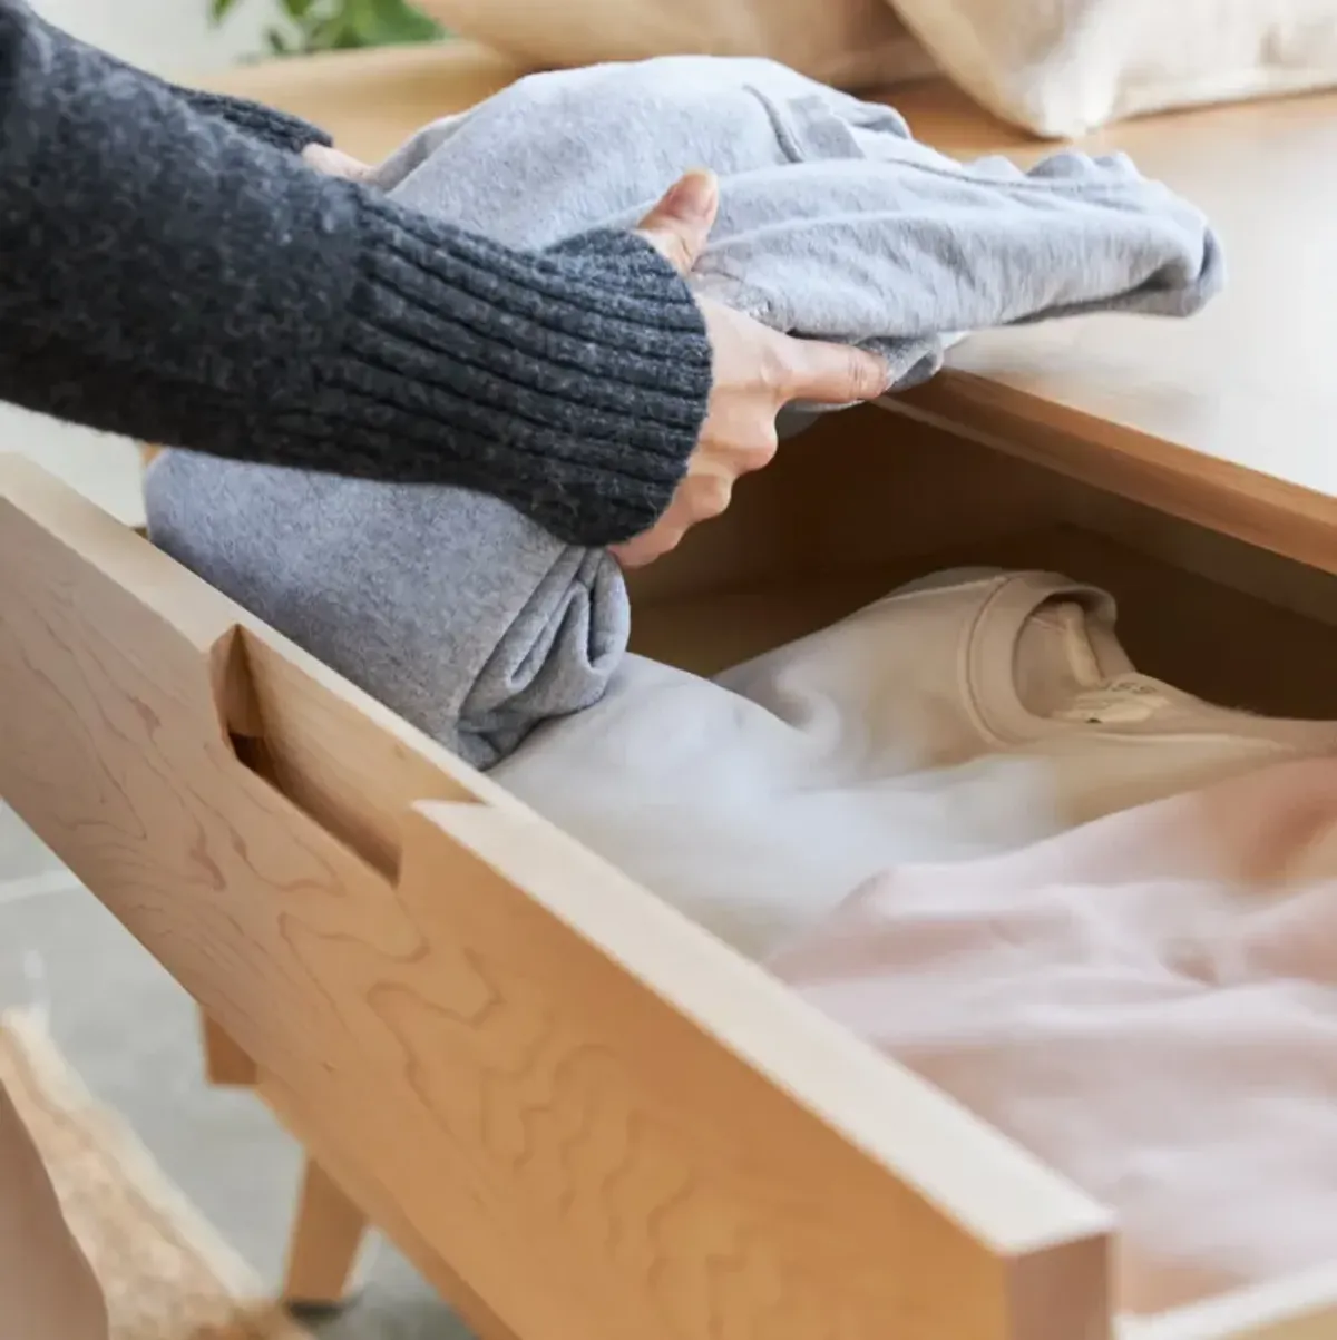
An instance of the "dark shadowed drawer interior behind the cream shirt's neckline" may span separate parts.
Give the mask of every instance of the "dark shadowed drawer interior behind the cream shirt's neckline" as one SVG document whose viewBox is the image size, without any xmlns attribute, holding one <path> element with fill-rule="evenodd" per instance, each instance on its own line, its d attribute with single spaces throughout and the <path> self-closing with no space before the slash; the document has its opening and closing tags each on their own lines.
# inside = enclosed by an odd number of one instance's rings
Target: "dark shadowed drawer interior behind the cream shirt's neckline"
<svg viewBox="0 0 1337 1340">
<path fill-rule="evenodd" d="M 1148 674 L 1269 716 L 1337 718 L 1337 576 L 868 407 L 821 421 L 723 519 L 632 575 L 632 649 L 701 674 L 966 564 L 1108 590 Z"/>
</svg>

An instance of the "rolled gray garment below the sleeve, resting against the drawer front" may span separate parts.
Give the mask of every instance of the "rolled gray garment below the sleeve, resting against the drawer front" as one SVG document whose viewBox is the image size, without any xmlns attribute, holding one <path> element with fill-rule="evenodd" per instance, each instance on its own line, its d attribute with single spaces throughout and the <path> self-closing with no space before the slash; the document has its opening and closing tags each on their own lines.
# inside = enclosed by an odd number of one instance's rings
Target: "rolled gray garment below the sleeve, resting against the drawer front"
<svg viewBox="0 0 1337 1340">
<path fill-rule="evenodd" d="M 167 452 L 150 536 L 477 766 L 596 702 L 627 645 L 602 549 L 506 503 Z"/>
</svg>

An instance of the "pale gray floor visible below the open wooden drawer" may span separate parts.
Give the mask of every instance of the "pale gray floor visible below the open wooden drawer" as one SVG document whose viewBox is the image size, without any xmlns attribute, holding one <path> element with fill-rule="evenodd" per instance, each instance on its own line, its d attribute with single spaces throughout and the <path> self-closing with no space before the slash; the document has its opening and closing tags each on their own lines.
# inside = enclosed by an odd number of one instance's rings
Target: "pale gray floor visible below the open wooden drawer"
<svg viewBox="0 0 1337 1340">
<path fill-rule="evenodd" d="M 44 1006 L 84 1081 L 261 1277 L 279 1282 L 299 1152 L 245 1093 L 201 1075 L 194 1009 L 55 856 L 0 808 L 0 1008 Z M 468 1340 L 387 1245 L 320 1340 Z"/>
</svg>

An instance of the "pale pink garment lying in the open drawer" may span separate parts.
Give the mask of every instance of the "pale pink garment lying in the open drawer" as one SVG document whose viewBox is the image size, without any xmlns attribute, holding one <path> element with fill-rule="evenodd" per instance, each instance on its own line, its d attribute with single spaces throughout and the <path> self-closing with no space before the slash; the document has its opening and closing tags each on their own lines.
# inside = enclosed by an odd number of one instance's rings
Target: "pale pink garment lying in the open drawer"
<svg viewBox="0 0 1337 1340">
<path fill-rule="evenodd" d="M 1337 758 L 899 867 L 770 966 L 1117 1210 L 1125 1309 L 1337 1261 Z"/>
</svg>

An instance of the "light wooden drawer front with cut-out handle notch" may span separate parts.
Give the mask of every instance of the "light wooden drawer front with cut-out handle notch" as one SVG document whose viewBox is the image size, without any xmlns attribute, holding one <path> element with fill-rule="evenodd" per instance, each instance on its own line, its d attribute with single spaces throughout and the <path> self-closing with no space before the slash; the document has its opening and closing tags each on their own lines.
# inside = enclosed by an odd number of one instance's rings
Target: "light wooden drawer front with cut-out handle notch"
<svg viewBox="0 0 1337 1340">
<path fill-rule="evenodd" d="M 1103 1210 L 29 464 L 0 500 L 0 792 L 505 1329 L 1107 1332 Z M 472 799 L 395 879 L 237 757 L 253 702 Z"/>
</svg>

